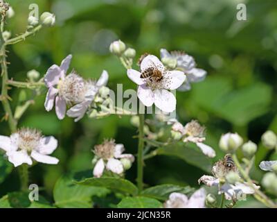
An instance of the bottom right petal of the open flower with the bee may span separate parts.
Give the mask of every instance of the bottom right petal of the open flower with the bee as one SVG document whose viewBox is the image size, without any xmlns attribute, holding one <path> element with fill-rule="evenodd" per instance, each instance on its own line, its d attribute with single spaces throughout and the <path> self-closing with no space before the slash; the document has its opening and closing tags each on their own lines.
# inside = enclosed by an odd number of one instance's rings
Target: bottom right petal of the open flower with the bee
<svg viewBox="0 0 277 222">
<path fill-rule="evenodd" d="M 166 89 L 156 89 L 154 91 L 154 103 L 163 112 L 173 112 L 176 110 L 176 98 Z"/>
</svg>

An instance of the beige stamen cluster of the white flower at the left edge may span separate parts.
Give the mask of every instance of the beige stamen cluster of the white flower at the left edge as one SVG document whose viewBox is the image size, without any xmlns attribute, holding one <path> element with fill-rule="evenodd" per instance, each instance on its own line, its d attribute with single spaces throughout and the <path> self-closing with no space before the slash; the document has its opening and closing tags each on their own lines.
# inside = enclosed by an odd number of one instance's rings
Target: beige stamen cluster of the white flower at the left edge
<svg viewBox="0 0 277 222">
<path fill-rule="evenodd" d="M 18 132 L 18 147 L 21 151 L 30 153 L 39 146 L 42 134 L 38 130 L 21 128 Z"/>
</svg>

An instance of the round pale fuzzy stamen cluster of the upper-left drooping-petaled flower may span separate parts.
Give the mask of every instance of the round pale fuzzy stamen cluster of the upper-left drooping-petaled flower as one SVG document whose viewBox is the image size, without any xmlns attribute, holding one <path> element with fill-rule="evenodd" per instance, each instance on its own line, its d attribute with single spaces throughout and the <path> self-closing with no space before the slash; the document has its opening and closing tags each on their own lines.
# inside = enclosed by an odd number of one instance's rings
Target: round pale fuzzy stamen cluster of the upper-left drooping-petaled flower
<svg viewBox="0 0 277 222">
<path fill-rule="evenodd" d="M 64 80 L 60 80 L 57 89 L 66 103 L 80 103 L 84 100 L 86 91 L 84 79 L 75 73 L 71 73 Z"/>
</svg>

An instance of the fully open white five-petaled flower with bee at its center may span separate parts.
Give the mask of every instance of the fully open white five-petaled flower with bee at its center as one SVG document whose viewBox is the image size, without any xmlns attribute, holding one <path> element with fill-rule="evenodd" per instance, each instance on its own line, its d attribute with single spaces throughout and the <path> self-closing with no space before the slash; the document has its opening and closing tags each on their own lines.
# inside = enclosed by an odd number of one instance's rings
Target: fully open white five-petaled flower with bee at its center
<svg viewBox="0 0 277 222">
<path fill-rule="evenodd" d="M 147 72 L 154 72 L 156 75 L 141 78 L 141 75 Z M 177 89 L 186 80 L 184 72 L 166 71 L 161 61 L 152 55 L 141 61 L 141 72 L 128 69 L 127 76 L 139 85 L 137 94 L 143 105 L 151 106 L 154 103 L 164 112 L 173 112 L 176 109 L 175 96 L 168 92 L 168 89 Z"/>
</svg>

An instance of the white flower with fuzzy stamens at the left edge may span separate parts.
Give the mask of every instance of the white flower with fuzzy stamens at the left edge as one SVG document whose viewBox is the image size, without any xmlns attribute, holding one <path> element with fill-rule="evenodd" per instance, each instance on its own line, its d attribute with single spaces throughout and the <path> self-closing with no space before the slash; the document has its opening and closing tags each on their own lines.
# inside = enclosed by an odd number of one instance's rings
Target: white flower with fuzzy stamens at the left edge
<svg viewBox="0 0 277 222">
<path fill-rule="evenodd" d="M 0 148 L 6 151 L 8 160 L 18 167 L 33 164 L 31 157 L 44 164 L 57 164 L 59 160 L 49 156 L 57 148 L 57 139 L 44 137 L 38 130 L 21 128 L 10 137 L 0 136 Z"/>
</svg>

